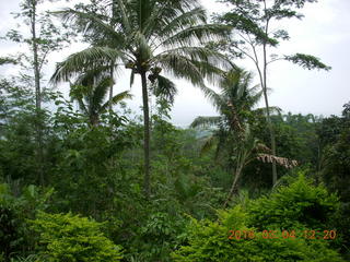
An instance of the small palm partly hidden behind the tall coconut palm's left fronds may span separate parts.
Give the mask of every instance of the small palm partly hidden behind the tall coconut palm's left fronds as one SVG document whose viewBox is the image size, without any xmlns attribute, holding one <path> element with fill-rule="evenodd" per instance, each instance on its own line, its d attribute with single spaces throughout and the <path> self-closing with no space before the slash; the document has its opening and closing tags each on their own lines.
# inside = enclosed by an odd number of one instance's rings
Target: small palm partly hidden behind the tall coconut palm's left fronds
<svg viewBox="0 0 350 262">
<path fill-rule="evenodd" d="M 104 103 L 105 97 L 114 82 L 108 71 L 103 68 L 82 73 L 70 87 L 70 96 L 77 100 L 80 110 L 89 117 L 92 127 L 100 124 L 100 116 L 112 105 L 116 105 L 125 98 L 131 98 L 129 92 L 121 92 Z M 105 68 L 108 70 L 108 68 Z M 110 92 L 110 91 L 109 91 Z"/>
</svg>

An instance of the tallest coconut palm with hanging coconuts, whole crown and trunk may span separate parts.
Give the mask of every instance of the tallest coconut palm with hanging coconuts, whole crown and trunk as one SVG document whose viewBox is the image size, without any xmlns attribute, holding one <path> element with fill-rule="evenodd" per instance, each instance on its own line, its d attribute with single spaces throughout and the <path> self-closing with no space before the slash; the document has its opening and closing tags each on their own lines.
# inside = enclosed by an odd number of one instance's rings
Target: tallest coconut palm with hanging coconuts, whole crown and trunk
<svg viewBox="0 0 350 262">
<path fill-rule="evenodd" d="M 131 81 L 141 76 L 144 122 L 144 191 L 150 195 L 150 117 L 149 84 L 154 94 L 170 99 L 176 94 L 174 83 L 162 72 L 184 78 L 194 85 L 205 87 L 205 78 L 214 81 L 219 68 L 230 62 L 219 52 L 207 48 L 209 40 L 229 36 L 230 28 L 219 24 L 207 24 L 206 11 L 197 0 L 114 0 L 119 12 L 114 13 L 115 24 L 101 14 L 66 10 L 66 19 L 85 23 L 89 32 L 103 32 L 115 45 L 94 46 L 70 56 L 58 64 L 54 81 L 67 80 L 73 72 L 94 59 L 117 63 L 122 61 L 131 70 Z"/>
</svg>

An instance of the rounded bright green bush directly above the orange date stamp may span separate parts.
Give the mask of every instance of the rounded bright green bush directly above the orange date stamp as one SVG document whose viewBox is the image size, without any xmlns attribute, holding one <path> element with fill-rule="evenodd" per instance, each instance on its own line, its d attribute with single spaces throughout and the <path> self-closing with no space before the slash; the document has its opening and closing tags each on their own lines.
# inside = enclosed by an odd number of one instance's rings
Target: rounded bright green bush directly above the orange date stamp
<svg viewBox="0 0 350 262">
<path fill-rule="evenodd" d="M 268 196 L 248 204 L 248 224 L 260 230 L 266 227 L 294 229 L 330 229 L 331 217 L 339 210 L 339 200 L 325 187 L 312 186 L 303 175 L 288 187 L 280 187 Z"/>
</svg>

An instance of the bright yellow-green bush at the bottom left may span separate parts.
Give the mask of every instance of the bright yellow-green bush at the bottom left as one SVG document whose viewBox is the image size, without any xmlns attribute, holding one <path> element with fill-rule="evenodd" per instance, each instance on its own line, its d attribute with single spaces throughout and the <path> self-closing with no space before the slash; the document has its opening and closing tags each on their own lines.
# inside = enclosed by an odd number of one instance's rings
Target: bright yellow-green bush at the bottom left
<svg viewBox="0 0 350 262">
<path fill-rule="evenodd" d="M 39 213 L 33 221 L 38 254 L 48 262 L 120 261 L 121 248 L 101 233 L 101 224 L 68 214 Z"/>
</svg>

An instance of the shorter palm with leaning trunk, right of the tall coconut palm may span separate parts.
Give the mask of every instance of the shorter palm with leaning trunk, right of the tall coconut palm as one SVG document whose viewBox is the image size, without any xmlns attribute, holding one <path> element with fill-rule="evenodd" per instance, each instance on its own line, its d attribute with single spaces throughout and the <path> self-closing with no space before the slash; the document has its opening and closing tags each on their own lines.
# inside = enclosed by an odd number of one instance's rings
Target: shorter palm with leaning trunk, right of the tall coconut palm
<svg viewBox="0 0 350 262">
<path fill-rule="evenodd" d="M 258 152 L 267 150 L 249 130 L 253 107 L 261 97 L 261 92 L 256 92 L 258 86 L 250 87 L 250 83 L 249 73 L 240 69 L 229 71 L 219 85 L 220 93 L 209 88 L 205 91 L 220 116 L 197 117 L 191 123 L 192 128 L 218 127 L 206 140 L 201 153 L 215 145 L 217 157 L 222 152 L 229 155 L 229 162 L 233 165 L 233 182 L 225 206 L 236 191 L 243 168 L 256 158 Z"/>
</svg>

